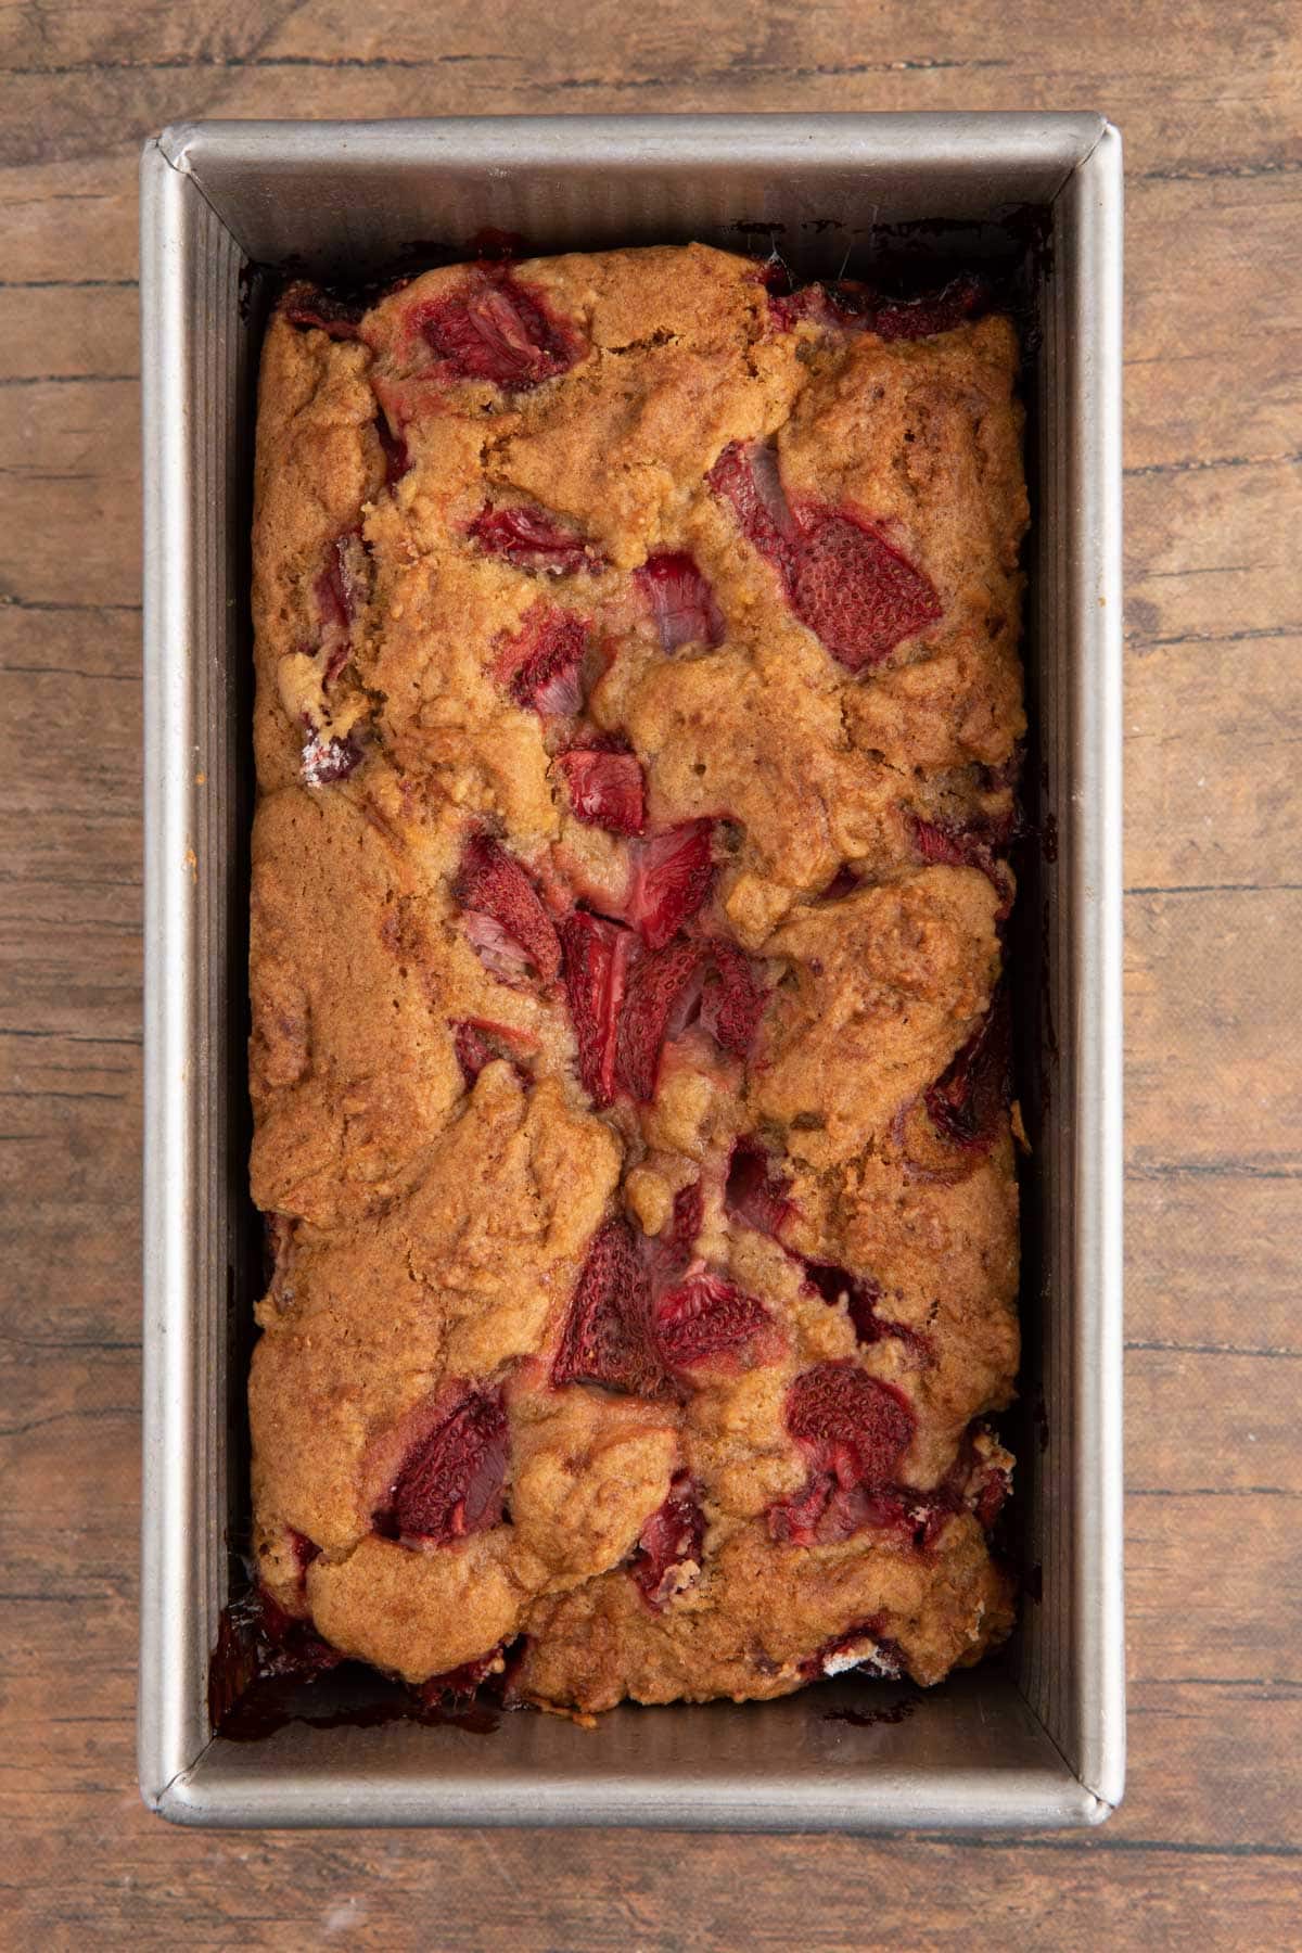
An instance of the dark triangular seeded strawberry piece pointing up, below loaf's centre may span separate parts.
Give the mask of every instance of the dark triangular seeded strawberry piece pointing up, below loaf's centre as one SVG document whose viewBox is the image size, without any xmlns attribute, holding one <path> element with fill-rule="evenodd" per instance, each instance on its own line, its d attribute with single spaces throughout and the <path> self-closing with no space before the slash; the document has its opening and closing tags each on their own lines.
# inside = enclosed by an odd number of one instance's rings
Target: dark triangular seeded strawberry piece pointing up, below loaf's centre
<svg viewBox="0 0 1302 1953">
<path fill-rule="evenodd" d="M 625 1221 L 607 1221 L 588 1248 L 552 1383 L 599 1383 L 631 1396 L 660 1396 L 668 1387 L 650 1332 L 650 1289 Z"/>
</svg>

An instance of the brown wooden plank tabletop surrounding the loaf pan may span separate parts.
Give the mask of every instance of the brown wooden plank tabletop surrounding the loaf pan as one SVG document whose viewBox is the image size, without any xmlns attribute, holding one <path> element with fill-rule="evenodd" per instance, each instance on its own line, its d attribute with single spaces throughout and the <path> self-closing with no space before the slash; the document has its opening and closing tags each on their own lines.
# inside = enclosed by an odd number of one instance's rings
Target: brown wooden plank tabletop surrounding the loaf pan
<svg viewBox="0 0 1302 1953">
<path fill-rule="evenodd" d="M 1298 1945 L 1296 6 L 29 0 L 0 35 L 0 1939 Z M 1128 1801 L 1019 1842 L 168 1830 L 133 1762 L 139 143 L 849 107 L 1128 145 Z"/>
</svg>

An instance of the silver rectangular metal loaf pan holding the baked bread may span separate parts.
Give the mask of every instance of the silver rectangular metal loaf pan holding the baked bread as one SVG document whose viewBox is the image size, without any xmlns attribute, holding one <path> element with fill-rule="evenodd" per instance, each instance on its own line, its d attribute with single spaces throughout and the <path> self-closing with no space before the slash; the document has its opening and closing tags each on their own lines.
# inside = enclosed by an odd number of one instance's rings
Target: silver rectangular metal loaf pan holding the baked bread
<svg viewBox="0 0 1302 1953">
<path fill-rule="evenodd" d="M 625 1707 L 492 1736 L 213 1738 L 244 1519 L 250 266 L 357 279 L 482 227 L 539 252 L 773 236 L 806 275 L 1038 213 L 1023 863 L 1023 1619 L 904 1721 Z M 925 221 L 945 221 L 929 225 Z M 894 227 L 906 227 L 896 232 Z M 912 227 L 912 229 L 910 229 Z M 994 229 L 992 229 L 994 227 Z M 763 248 L 763 242 L 759 242 Z M 142 158 L 146 1205 L 141 1785 L 187 1824 L 1093 1824 L 1122 1785 L 1120 141 L 1097 115 L 203 123 Z M 1050 846 L 1050 838 L 1056 846 Z M 1035 1598 L 1038 1592 L 1038 1600 Z M 859 1683 L 857 1699 L 884 1683 Z M 845 1695 L 841 1697 L 845 1699 Z"/>
</svg>

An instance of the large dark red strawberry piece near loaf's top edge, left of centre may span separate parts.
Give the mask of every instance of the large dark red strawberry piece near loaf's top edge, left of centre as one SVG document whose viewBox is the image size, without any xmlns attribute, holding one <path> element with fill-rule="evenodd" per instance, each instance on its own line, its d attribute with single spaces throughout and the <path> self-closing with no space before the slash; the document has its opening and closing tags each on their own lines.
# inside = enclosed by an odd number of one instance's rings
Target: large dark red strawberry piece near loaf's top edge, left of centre
<svg viewBox="0 0 1302 1953">
<path fill-rule="evenodd" d="M 418 305 L 408 320 L 455 379 L 490 379 L 515 393 L 568 373 L 580 336 L 558 320 L 541 293 L 508 271 L 484 270 L 453 291 Z"/>
</svg>

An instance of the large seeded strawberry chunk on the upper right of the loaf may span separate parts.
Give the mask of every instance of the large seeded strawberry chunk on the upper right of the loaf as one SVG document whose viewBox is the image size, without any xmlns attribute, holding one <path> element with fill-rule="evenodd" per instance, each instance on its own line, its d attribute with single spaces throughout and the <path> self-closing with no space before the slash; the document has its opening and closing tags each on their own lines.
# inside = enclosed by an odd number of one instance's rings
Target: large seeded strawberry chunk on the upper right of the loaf
<svg viewBox="0 0 1302 1953">
<path fill-rule="evenodd" d="M 822 508 L 802 521 L 791 603 L 849 672 L 880 664 L 941 615 L 935 590 L 906 557 L 855 516 Z"/>
</svg>

